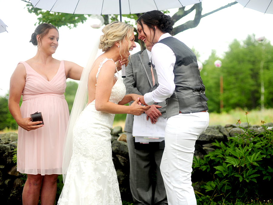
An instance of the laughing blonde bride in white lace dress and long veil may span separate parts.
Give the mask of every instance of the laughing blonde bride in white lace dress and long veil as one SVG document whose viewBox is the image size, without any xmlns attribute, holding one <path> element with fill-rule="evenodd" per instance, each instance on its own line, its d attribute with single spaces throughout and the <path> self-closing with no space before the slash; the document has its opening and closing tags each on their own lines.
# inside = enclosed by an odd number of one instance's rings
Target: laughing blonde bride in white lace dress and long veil
<svg viewBox="0 0 273 205">
<path fill-rule="evenodd" d="M 114 75 L 118 71 L 115 62 L 128 58 L 129 51 L 136 47 L 133 30 L 122 22 L 107 24 L 98 46 L 104 53 L 94 60 L 94 52 L 88 63 L 92 67 L 87 65 L 83 70 L 67 129 L 63 156 L 66 177 L 58 204 L 122 204 L 112 161 L 110 128 L 115 114 L 141 115 L 150 108 L 139 105 L 141 96 L 125 95 L 121 76 Z M 88 103 L 78 117 L 87 82 Z M 131 106 L 124 106 L 132 100 Z"/>
</svg>

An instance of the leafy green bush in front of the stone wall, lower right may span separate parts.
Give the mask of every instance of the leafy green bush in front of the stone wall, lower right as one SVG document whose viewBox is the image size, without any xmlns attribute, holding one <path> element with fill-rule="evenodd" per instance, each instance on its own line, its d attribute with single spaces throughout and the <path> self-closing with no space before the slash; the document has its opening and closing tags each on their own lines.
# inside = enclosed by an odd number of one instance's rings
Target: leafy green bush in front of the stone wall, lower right
<svg viewBox="0 0 273 205">
<path fill-rule="evenodd" d="M 268 182 L 272 183 L 273 175 L 273 132 L 263 121 L 259 134 L 243 129 L 240 120 L 237 123 L 240 135 L 229 137 L 228 142 L 212 143 L 218 148 L 204 159 L 194 157 L 193 168 L 207 174 L 207 182 L 201 185 L 207 196 L 196 193 L 199 203 L 272 197 Z"/>
</svg>

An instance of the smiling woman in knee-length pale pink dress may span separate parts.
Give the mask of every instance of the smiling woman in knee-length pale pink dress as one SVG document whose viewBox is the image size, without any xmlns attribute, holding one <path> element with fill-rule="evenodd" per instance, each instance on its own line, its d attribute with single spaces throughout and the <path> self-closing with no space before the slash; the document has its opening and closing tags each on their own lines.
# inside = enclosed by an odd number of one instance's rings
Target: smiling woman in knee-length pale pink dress
<svg viewBox="0 0 273 205">
<path fill-rule="evenodd" d="M 51 24 L 40 24 L 30 42 L 36 55 L 19 62 L 10 79 L 8 108 L 18 128 L 17 170 L 27 174 L 23 204 L 54 204 L 56 181 L 62 174 L 62 148 L 69 119 L 64 92 L 66 79 L 80 80 L 83 67 L 52 57 L 59 32 Z M 19 101 L 23 95 L 21 108 Z M 30 114 L 42 112 L 41 121 L 31 122 Z"/>
</svg>

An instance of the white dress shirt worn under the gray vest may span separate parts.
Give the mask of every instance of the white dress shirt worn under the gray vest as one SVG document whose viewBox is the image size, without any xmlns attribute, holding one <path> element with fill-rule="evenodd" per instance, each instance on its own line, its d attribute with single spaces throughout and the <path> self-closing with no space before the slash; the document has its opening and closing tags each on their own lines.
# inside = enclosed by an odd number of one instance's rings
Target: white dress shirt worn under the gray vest
<svg viewBox="0 0 273 205">
<path fill-rule="evenodd" d="M 160 36 L 159 40 L 170 37 L 169 33 Z M 148 50 L 147 50 L 148 51 Z M 157 80 L 159 86 L 153 92 L 144 95 L 144 101 L 147 105 L 154 102 L 163 102 L 174 93 L 174 63 L 176 57 L 174 51 L 160 42 L 152 48 L 152 63 L 157 71 Z"/>
</svg>

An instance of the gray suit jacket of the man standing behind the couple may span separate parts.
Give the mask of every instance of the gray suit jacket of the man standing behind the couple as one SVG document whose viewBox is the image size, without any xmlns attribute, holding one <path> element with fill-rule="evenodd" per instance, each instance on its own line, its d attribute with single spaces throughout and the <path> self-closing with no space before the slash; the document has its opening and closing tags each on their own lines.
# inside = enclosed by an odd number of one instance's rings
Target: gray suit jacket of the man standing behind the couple
<svg viewBox="0 0 273 205">
<path fill-rule="evenodd" d="M 157 88 L 157 84 L 153 86 L 151 66 L 149 65 L 149 57 L 147 51 L 139 51 L 136 54 L 133 54 L 131 58 L 129 57 L 130 62 L 126 67 L 126 78 L 123 79 L 123 82 L 126 86 L 126 94 L 135 93 L 139 95 L 144 95 L 149 93 Z M 153 69 L 155 82 L 157 82 L 156 70 Z M 133 102 L 130 102 L 131 105 Z M 159 108 L 159 111 L 162 113 L 164 118 L 167 117 L 166 114 L 166 102 L 154 103 L 156 105 L 162 106 Z M 134 116 L 127 114 L 124 131 L 132 132 L 133 130 L 133 121 Z"/>
</svg>

